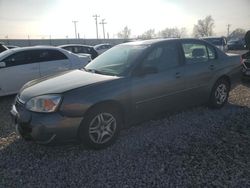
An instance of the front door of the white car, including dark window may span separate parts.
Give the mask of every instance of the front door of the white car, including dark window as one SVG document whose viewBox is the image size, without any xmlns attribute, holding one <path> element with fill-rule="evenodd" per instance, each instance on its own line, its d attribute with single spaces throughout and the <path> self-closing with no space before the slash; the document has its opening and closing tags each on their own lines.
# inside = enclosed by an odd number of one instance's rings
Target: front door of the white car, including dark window
<svg viewBox="0 0 250 188">
<path fill-rule="evenodd" d="M 39 78 L 39 63 L 31 50 L 16 52 L 2 62 L 6 66 L 0 68 L 1 93 L 17 93 L 26 82 Z"/>
</svg>

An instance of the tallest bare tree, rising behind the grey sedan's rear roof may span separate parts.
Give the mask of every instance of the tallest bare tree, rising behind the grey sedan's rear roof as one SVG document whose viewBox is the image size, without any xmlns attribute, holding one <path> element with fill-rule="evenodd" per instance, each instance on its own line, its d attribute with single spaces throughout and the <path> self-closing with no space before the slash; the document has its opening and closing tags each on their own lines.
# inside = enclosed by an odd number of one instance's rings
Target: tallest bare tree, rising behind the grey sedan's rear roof
<svg viewBox="0 0 250 188">
<path fill-rule="evenodd" d="M 198 20 L 197 25 L 194 25 L 193 35 L 195 37 L 208 37 L 214 34 L 214 19 L 212 16 L 207 16 L 203 20 Z"/>
</svg>

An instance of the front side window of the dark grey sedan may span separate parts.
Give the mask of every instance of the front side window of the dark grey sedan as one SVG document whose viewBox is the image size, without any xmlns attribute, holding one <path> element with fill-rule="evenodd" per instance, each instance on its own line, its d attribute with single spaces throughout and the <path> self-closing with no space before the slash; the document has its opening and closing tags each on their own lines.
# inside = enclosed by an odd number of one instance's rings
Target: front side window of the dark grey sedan
<svg viewBox="0 0 250 188">
<path fill-rule="evenodd" d="M 168 70 L 179 65 L 179 52 L 174 43 L 167 43 L 156 47 L 149 53 L 143 62 L 143 66 L 153 66 L 159 72 Z"/>
</svg>

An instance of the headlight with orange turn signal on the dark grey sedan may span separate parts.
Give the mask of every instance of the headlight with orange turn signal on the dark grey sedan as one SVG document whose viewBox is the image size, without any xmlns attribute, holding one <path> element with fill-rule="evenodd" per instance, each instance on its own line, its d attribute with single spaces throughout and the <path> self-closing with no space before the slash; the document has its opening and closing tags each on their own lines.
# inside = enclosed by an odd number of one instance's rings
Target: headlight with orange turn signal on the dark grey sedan
<svg viewBox="0 0 250 188">
<path fill-rule="evenodd" d="M 41 95 L 30 99 L 26 103 L 26 109 L 33 112 L 54 112 L 61 102 L 60 95 Z"/>
</svg>

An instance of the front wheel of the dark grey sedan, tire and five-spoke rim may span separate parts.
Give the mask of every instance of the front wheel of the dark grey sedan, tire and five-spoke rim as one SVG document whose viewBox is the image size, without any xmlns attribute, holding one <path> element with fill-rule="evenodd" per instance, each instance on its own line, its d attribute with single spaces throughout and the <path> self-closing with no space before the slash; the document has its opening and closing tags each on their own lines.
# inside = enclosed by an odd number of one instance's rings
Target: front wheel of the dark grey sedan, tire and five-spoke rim
<svg viewBox="0 0 250 188">
<path fill-rule="evenodd" d="M 120 114 L 115 109 L 95 107 L 81 123 L 79 138 L 88 148 L 106 148 L 115 142 L 121 123 Z"/>
</svg>

